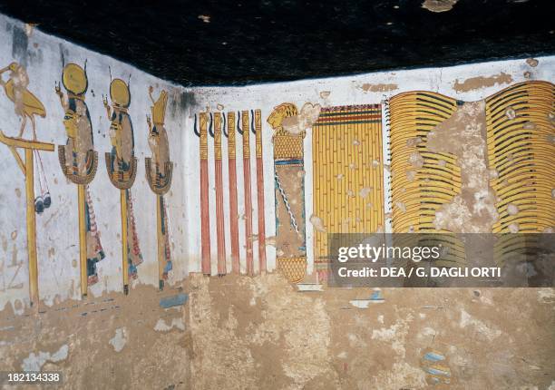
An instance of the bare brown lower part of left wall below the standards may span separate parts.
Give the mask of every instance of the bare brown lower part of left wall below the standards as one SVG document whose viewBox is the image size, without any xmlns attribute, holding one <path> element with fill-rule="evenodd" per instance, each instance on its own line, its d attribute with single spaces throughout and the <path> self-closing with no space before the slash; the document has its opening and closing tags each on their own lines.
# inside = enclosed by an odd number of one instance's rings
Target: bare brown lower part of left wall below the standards
<svg viewBox="0 0 555 390">
<path fill-rule="evenodd" d="M 61 389 L 190 387 L 190 334 L 184 307 L 160 307 L 172 291 L 138 286 L 124 297 L 106 294 L 64 301 L 37 313 L 0 312 L 0 370 L 62 371 Z M 179 318 L 177 320 L 176 318 Z M 171 367 L 171 368 L 170 368 Z M 175 367 L 180 367 L 175 369 Z"/>
</svg>

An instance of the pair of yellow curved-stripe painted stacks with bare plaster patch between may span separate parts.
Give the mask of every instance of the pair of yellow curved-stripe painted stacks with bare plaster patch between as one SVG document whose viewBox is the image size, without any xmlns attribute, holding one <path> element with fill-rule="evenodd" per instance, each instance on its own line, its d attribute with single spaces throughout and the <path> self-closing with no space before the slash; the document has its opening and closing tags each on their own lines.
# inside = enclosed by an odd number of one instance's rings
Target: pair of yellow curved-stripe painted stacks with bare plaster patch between
<svg viewBox="0 0 555 390">
<path fill-rule="evenodd" d="M 468 257 L 460 233 L 550 232 L 554 93 L 552 83 L 527 82 L 478 102 L 394 96 L 393 231 L 453 233 L 444 266 Z"/>
</svg>

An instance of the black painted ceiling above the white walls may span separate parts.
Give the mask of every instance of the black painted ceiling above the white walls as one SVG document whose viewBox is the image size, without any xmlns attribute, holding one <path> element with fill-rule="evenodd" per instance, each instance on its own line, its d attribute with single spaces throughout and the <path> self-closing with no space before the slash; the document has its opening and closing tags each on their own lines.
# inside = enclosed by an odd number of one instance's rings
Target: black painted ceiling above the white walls
<svg viewBox="0 0 555 390">
<path fill-rule="evenodd" d="M 423 1 L 0 0 L 0 13 L 183 85 L 555 54 L 553 0 L 459 0 L 443 13 Z"/>
</svg>

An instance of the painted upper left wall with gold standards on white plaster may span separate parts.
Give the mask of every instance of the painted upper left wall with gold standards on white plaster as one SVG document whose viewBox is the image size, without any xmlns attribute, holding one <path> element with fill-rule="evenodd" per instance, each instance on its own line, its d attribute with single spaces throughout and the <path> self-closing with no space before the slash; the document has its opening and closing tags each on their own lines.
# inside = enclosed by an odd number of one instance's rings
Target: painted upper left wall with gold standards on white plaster
<svg viewBox="0 0 555 390">
<path fill-rule="evenodd" d="M 183 176 L 181 157 L 193 146 L 183 144 L 182 132 L 190 93 L 5 16 L 0 42 L 0 66 L 6 67 L 0 130 L 17 137 L 25 120 L 23 138 L 33 140 L 34 122 L 39 146 L 50 149 L 0 144 L 0 307 L 21 311 L 30 303 L 25 150 L 34 157 L 34 199 L 48 193 L 51 201 L 34 212 L 40 301 L 52 306 L 122 291 L 124 273 L 132 285 L 180 282 L 188 270 L 185 232 L 191 230 L 182 219 L 192 210 L 185 210 L 185 180 L 168 179 L 171 170 Z M 127 200 L 125 219 L 121 200 Z"/>
</svg>

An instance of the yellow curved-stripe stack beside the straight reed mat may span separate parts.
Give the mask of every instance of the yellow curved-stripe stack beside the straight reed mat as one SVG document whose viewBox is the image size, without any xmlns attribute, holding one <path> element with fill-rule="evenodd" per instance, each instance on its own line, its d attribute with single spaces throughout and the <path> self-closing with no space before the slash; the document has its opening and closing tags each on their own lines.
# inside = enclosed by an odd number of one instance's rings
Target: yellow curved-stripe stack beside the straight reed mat
<svg viewBox="0 0 555 390">
<path fill-rule="evenodd" d="M 435 211 L 460 192 L 461 169 L 453 154 L 427 151 L 426 137 L 453 114 L 457 101 L 439 93 L 410 92 L 395 95 L 389 106 L 393 232 L 438 232 Z M 411 158 L 422 158 L 424 165 L 414 166 Z"/>
</svg>

